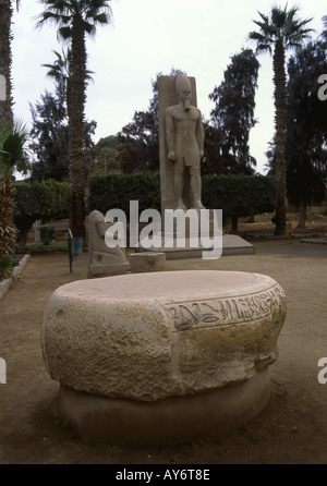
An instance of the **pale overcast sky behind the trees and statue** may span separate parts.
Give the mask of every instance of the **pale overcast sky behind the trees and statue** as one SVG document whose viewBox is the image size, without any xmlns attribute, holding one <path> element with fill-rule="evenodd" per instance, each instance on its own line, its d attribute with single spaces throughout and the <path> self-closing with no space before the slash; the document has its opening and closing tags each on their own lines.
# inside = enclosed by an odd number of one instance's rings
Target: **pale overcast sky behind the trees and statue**
<svg viewBox="0 0 327 486">
<path fill-rule="evenodd" d="M 85 114 L 97 121 L 95 142 L 114 135 L 128 124 L 134 111 L 147 110 L 153 97 L 152 80 L 158 73 L 180 69 L 196 78 L 197 106 L 205 119 L 214 108 L 208 95 L 223 78 L 230 57 L 254 45 L 249 32 L 256 29 L 257 11 L 268 14 L 274 0 L 112 0 L 112 23 L 99 27 L 95 40 L 87 40 L 88 85 Z M 283 7 L 284 2 L 278 2 Z M 300 7 L 300 17 L 313 17 L 310 26 L 323 29 L 326 0 L 289 1 Z M 62 45 L 53 26 L 35 28 L 43 11 L 37 0 L 22 0 L 13 25 L 14 116 L 31 126 L 29 102 L 39 100 L 45 89 L 53 90 L 41 64 L 55 61 L 53 50 Z M 271 58 L 261 54 L 255 117 L 251 132 L 251 154 L 257 170 L 265 173 L 265 151 L 274 135 Z"/>
</svg>

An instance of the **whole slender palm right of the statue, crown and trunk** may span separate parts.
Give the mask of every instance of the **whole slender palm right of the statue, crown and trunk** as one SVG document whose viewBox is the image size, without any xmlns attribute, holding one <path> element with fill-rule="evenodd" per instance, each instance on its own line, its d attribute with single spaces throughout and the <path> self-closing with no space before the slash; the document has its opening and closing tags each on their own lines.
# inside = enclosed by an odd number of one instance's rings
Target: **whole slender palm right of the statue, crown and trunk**
<svg viewBox="0 0 327 486">
<path fill-rule="evenodd" d="M 286 144 L 287 144 L 287 76 L 286 52 L 300 47 L 312 32 L 306 28 L 312 19 L 298 19 L 299 8 L 288 10 L 274 7 L 269 16 L 258 12 L 261 21 L 254 21 L 259 32 L 251 32 L 249 38 L 256 41 L 257 52 L 272 52 L 275 99 L 275 163 L 277 177 L 276 235 L 286 234 Z"/>
</svg>

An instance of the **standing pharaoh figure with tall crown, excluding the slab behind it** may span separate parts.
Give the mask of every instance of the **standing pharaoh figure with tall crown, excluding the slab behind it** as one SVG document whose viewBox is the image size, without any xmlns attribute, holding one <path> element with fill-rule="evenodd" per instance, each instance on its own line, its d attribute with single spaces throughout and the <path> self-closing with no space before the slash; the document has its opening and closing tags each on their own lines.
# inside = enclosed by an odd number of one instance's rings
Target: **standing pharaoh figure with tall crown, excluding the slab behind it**
<svg viewBox="0 0 327 486">
<path fill-rule="evenodd" d="M 191 105 L 191 82 L 183 73 L 175 76 L 179 104 L 166 109 L 168 159 L 173 165 L 174 209 L 186 209 L 183 201 L 185 172 L 190 173 L 190 205 L 204 209 L 201 202 L 201 159 L 204 155 L 204 130 L 198 108 Z"/>
</svg>

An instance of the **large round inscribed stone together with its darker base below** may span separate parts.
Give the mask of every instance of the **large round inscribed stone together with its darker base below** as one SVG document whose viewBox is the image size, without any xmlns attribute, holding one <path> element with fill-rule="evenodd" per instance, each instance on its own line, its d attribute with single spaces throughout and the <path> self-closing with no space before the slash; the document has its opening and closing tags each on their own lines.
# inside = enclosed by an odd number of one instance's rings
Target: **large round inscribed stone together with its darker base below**
<svg viewBox="0 0 327 486">
<path fill-rule="evenodd" d="M 43 352 L 83 440 L 172 444 L 225 433 L 263 410 L 284 317 L 282 288 L 257 274 L 80 280 L 51 295 Z"/>
</svg>

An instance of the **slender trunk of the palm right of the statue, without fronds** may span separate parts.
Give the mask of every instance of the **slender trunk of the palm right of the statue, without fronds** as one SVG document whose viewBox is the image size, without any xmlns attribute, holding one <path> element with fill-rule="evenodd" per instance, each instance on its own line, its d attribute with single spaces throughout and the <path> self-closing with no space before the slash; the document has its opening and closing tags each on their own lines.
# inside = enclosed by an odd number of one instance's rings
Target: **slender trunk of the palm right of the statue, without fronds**
<svg viewBox="0 0 327 486">
<path fill-rule="evenodd" d="M 284 48 L 277 41 L 274 52 L 274 84 L 275 84 L 275 144 L 276 144 L 276 175 L 277 175 L 277 206 L 276 235 L 286 234 L 286 145 L 287 145 L 287 90 L 284 71 Z"/>
</svg>

